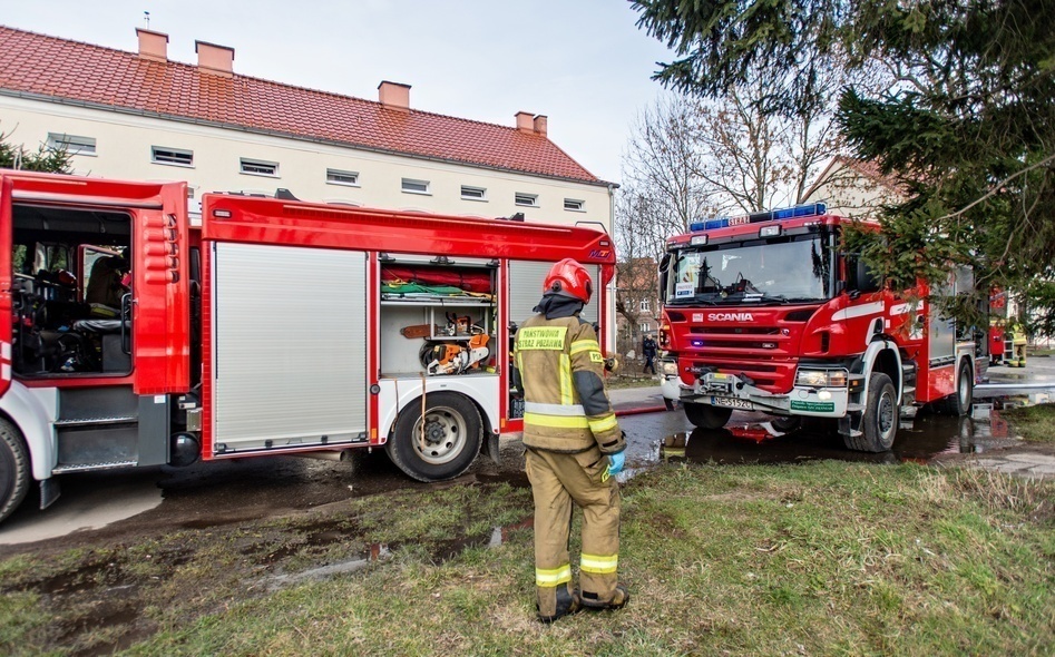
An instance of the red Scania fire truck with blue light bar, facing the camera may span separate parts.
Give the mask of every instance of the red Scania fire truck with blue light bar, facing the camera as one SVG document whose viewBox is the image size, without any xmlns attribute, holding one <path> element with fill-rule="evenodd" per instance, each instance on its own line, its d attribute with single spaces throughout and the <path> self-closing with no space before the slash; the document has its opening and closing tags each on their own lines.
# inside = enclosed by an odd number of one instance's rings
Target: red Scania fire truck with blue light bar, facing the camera
<svg viewBox="0 0 1055 657">
<path fill-rule="evenodd" d="M 938 316 L 931 294 L 969 290 L 970 273 L 893 291 L 841 253 L 849 222 L 818 203 L 694 223 L 667 241 L 663 392 L 693 424 L 721 428 L 733 410 L 769 413 L 779 431 L 829 418 L 849 449 L 881 452 L 901 410 L 969 411 L 986 341 Z"/>
</svg>

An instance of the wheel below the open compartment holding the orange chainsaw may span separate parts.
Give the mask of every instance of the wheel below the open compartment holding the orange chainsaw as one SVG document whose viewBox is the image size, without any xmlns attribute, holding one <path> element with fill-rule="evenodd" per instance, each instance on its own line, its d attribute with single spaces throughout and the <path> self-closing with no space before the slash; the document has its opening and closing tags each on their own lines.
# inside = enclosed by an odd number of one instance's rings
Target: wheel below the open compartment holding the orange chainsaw
<svg viewBox="0 0 1055 657">
<path fill-rule="evenodd" d="M 426 398 L 424 422 L 422 445 L 420 400 L 397 418 L 384 445 L 395 467 L 418 481 L 442 481 L 468 470 L 483 440 L 476 405 L 458 393 L 433 392 Z"/>
</svg>

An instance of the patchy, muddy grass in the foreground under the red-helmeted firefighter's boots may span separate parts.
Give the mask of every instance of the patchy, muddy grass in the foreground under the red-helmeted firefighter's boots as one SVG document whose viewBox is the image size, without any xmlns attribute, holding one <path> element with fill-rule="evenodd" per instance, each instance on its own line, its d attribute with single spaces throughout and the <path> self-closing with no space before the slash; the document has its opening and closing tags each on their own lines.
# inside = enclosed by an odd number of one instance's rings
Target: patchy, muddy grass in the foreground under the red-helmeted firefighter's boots
<svg viewBox="0 0 1055 657">
<path fill-rule="evenodd" d="M 0 654 L 1055 653 L 1052 482 L 672 462 L 623 494 L 618 612 L 535 620 L 528 489 L 421 487 L 7 558 Z"/>
</svg>

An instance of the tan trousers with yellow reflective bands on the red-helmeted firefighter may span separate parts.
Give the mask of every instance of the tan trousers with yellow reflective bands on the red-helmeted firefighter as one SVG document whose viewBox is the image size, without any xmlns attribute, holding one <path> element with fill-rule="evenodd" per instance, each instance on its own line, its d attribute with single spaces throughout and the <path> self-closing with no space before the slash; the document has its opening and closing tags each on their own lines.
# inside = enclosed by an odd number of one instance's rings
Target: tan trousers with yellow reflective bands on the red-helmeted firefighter
<svg viewBox="0 0 1055 657">
<path fill-rule="evenodd" d="M 610 601 L 619 561 L 619 487 L 606 477 L 597 448 L 578 454 L 528 449 L 526 470 L 535 497 L 535 586 L 539 615 L 556 612 L 558 587 L 570 590 L 572 502 L 583 509 L 579 586 L 584 599 Z"/>
</svg>

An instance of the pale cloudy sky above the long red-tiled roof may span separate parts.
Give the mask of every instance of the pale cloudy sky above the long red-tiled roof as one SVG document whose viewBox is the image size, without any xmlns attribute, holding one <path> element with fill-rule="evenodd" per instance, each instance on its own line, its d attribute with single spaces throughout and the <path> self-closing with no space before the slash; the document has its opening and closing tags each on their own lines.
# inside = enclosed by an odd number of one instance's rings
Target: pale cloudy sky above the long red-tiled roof
<svg viewBox="0 0 1055 657">
<path fill-rule="evenodd" d="M 667 49 L 624 0 L 0 0 L 3 24 L 136 51 L 135 28 L 235 49 L 235 72 L 378 99 L 412 87 L 414 109 L 514 126 L 549 117 L 549 138 L 595 176 L 619 183 L 637 114 L 662 94 L 649 77 Z"/>
</svg>

